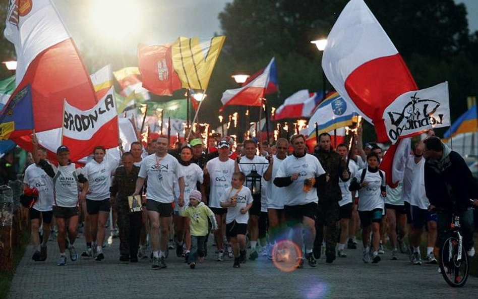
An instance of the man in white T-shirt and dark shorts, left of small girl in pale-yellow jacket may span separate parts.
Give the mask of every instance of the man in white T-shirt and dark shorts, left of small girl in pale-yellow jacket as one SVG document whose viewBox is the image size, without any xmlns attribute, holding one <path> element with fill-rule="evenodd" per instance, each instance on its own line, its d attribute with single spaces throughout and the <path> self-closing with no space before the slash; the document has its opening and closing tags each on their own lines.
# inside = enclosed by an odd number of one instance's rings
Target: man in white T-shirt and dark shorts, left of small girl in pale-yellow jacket
<svg viewBox="0 0 478 299">
<path fill-rule="evenodd" d="M 168 140 L 160 137 L 156 141 L 156 153 L 147 156 L 141 163 L 136 191 L 133 195 L 140 194 L 144 180 L 148 178 L 146 191 L 146 207 L 150 222 L 150 237 L 153 249 L 151 267 L 153 269 L 166 268 L 165 252 L 169 236 L 169 223 L 173 211 L 174 180 L 177 179 L 180 194 L 177 196 L 180 207 L 184 205 L 184 174 L 180 163 L 167 153 Z M 159 230 L 161 235 L 159 237 Z"/>
</svg>

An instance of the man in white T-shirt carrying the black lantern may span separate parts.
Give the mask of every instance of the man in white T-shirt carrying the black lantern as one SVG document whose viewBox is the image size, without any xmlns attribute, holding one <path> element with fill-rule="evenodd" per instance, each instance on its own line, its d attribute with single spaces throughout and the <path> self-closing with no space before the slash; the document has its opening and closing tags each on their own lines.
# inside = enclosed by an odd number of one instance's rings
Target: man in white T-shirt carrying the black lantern
<svg viewBox="0 0 478 299">
<path fill-rule="evenodd" d="M 243 142 L 244 151 L 246 155 L 241 158 L 236 159 L 235 171 L 242 171 L 246 177 L 251 173 L 252 170 L 256 170 L 257 174 L 260 176 L 264 175 L 264 172 L 268 167 L 271 167 L 272 164 L 269 164 L 269 160 L 262 156 L 257 156 L 257 146 L 256 143 L 251 140 L 245 140 Z M 271 157 L 272 158 L 272 157 Z M 244 186 L 248 187 L 252 192 L 252 197 L 254 202 L 252 208 L 249 210 L 249 237 L 251 242 L 251 253 L 249 259 L 255 260 L 258 258 L 258 253 L 256 251 L 257 239 L 259 237 L 259 217 L 261 215 L 261 197 L 266 198 L 266 194 L 259 189 L 259 182 L 257 186 L 253 187 L 248 185 L 247 180 L 244 183 Z M 256 192 L 257 191 L 257 192 Z"/>
</svg>

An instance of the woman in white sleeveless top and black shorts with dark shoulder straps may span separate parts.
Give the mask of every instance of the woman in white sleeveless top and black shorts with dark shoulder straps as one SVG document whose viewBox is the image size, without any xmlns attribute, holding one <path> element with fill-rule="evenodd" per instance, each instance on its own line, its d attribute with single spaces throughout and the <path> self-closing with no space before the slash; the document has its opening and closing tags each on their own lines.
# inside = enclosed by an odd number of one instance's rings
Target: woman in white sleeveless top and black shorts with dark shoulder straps
<svg viewBox="0 0 478 299">
<path fill-rule="evenodd" d="M 378 169 L 379 156 L 371 152 L 367 155 L 367 168 L 358 170 L 354 180 L 350 183 L 350 190 L 358 190 L 358 215 L 362 224 L 362 242 L 364 244 L 365 263 L 378 263 L 380 242 L 380 223 L 384 209 L 383 198 L 387 195 L 385 191 L 385 173 Z M 369 235 L 373 232 L 372 246 L 373 254 L 370 256 Z"/>
</svg>

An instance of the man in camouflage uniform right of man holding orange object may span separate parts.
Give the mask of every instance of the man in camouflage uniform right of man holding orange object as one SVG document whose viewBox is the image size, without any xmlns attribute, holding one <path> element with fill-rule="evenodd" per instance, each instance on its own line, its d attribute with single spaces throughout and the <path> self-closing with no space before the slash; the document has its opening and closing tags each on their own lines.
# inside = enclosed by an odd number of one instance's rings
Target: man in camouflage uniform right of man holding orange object
<svg viewBox="0 0 478 299">
<path fill-rule="evenodd" d="M 324 238 L 324 225 L 327 227 L 325 237 L 326 262 L 332 263 L 335 260 L 335 245 L 337 244 L 339 220 L 339 204 L 342 193 L 339 187 L 339 177 L 347 181 L 350 173 L 346 169 L 345 161 L 338 153 L 333 151 L 330 145 L 331 139 L 328 133 L 319 135 L 319 147 L 314 155 L 319 159 L 320 164 L 329 176 L 329 181 L 317 188 L 319 196 L 318 214 L 316 226 L 316 237 L 314 241 L 314 256 L 320 258 L 320 249 Z"/>
</svg>

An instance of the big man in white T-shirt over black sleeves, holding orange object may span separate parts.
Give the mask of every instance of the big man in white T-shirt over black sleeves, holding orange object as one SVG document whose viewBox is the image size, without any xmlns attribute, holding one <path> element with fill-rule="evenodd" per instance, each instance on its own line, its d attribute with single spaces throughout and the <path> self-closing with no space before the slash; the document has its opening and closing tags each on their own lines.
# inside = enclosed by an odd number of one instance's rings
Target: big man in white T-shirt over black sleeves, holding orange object
<svg viewBox="0 0 478 299">
<path fill-rule="evenodd" d="M 305 244 L 309 266 L 316 267 L 317 260 L 312 253 L 319 200 L 316 187 L 328 180 L 319 160 L 306 152 L 304 135 L 293 135 L 290 143 L 294 152 L 280 164 L 274 184 L 283 189 L 285 220 L 292 228 L 292 241 L 301 249 Z M 303 227 L 305 238 L 302 237 Z M 297 255 L 296 267 L 302 268 L 302 251 Z"/>
</svg>

